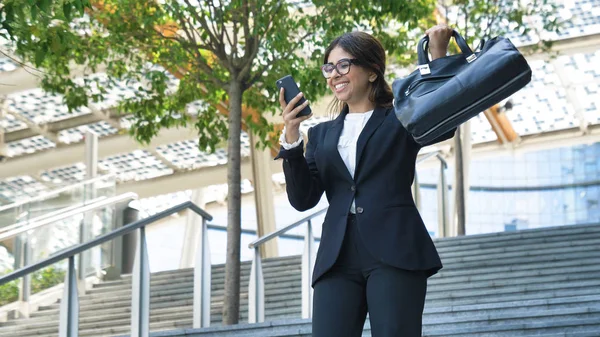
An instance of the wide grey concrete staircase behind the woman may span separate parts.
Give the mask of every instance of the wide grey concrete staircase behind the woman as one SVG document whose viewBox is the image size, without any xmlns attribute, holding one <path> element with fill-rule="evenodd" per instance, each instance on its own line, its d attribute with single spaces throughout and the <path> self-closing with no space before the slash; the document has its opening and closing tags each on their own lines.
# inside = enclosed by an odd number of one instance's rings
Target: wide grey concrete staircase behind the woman
<svg viewBox="0 0 600 337">
<path fill-rule="evenodd" d="M 424 336 L 600 336 L 600 225 L 577 225 L 436 240 L 444 269 L 429 281 Z M 218 326 L 224 267 L 213 266 L 212 322 L 193 330 L 192 271 L 155 273 L 152 336 L 310 336 L 299 319 L 300 258 L 265 261 L 267 322 Z M 250 264 L 242 264 L 241 322 Z M 80 336 L 129 333 L 131 279 L 80 298 Z M 56 336 L 59 304 L 3 323 L 0 336 Z M 370 336 L 369 323 L 364 336 Z"/>
</svg>

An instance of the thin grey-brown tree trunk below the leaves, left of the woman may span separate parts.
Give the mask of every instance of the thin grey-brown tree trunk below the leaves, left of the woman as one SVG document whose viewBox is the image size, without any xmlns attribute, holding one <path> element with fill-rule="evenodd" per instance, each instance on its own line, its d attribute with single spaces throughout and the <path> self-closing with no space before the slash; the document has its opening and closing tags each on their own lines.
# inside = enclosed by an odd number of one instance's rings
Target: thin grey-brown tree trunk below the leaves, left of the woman
<svg viewBox="0 0 600 337">
<path fill-rule="evenodd" d="M 229 84 L 229 137 L 227 145 L 227 257 L 225 261 L 225 298 L 223 325 L 237 324 L 240 317 L 241 245 L 241 149 L 242 85 Z"/>
</svg>

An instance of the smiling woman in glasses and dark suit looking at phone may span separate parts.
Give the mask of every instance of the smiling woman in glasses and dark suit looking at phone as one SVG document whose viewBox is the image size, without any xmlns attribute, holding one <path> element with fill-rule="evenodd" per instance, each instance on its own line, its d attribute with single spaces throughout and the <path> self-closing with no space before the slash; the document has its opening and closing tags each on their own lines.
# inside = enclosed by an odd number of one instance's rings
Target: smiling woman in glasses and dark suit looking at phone
<svg viewBox="0 0 600 337">
<path fill-rule="evenodd" d="M 426 34 L 432 58 L 444 56 L 452 30 Z M 286 104 L 282 89 L 277 156 L 294 208 L 314 207 L 323 192 L 329 200 L 312 279 L 313 336 L 361 336 L 367 312 L 374 337 L 421 336 L 427 278 L 442 268 L 411 193 L 421 146 L 393 113 L 379 41 L 338 37 L 322 71 L 339 116 L 308 130 L 303 154 L 299 126 L 311 116 L 295 116 L 308 101 L 294 109 L 302 93 Z"/>
</svg>

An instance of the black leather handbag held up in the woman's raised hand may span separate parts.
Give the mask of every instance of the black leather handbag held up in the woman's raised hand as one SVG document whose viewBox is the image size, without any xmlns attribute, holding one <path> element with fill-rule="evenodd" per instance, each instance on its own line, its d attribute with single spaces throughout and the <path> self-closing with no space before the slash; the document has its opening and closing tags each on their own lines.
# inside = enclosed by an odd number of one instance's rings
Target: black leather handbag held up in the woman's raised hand
<svg viewBox="0 0 600 337">
<path fill-rule="evenodd" d="M 510 40 L 482 40 L 481 51 L 474 53 L 457 31 L 453 36 L 462 53 L 429 61 L 426 36 L 419 41 L 417 70 L 392 84 L 396 117 L 421 145 L 531 81 L 531 68 Z"/>
</svg>

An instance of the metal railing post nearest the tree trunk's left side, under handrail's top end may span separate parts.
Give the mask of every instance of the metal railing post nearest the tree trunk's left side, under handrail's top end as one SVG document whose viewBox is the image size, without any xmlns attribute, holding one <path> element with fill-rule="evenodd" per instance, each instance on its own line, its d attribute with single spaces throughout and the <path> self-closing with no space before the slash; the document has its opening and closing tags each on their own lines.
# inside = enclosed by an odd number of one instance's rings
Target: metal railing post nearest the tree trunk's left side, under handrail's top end
<svg viewBox="0 0 600 337">
<path fill-rule="evenodd" d="M 211 263 L 208 246 L 208 228 L 202 218 L 202 228 L 196 246 L 194 263 L 194 329 L 210 325 Z"/>
</svg>

